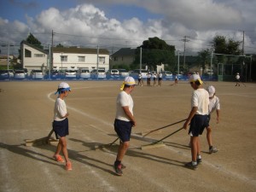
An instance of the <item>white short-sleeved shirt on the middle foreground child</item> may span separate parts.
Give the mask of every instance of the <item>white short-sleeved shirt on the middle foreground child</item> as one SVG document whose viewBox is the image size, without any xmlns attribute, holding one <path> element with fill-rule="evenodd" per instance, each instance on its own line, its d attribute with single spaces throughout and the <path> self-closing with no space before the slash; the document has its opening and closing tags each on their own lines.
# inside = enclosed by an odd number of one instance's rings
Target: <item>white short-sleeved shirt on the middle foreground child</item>
<svg viewBox="0 0 256 192">
<path fill-rule="evenodd" d="M 130 112 L 133 115 L 133 100 L 130 94 L 127 94 L 124 90 L 121 91 L 116 99 L 116 115 L 115 119 L 131 121 L 125 114 L 125 111 L 122 107 L 128 106 Z"/>
</svg>

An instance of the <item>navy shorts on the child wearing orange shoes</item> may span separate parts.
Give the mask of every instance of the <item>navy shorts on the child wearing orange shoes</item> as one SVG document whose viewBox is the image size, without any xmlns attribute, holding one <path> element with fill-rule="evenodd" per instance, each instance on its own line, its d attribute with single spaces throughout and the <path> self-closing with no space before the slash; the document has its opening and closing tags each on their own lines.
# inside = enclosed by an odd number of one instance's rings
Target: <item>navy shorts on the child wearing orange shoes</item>
<svg viewBox="0 0 256 192">
<path fill-rule="evenodd" d="M 61 121 L 54 120 L 54 122 L 52 123 L 52 128 L 55 131 L 55 137 L 57 139 L 59 139 L 61 137 L 66 137 L 69 134 L 68 119 L 66 118 Z"/>
</svg>

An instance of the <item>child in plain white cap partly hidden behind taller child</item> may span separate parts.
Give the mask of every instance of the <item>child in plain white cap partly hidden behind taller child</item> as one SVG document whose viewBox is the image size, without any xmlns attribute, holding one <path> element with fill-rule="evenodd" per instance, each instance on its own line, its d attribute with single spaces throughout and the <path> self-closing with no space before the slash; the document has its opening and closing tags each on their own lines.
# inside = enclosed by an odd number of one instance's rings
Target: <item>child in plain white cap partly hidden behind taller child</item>
<svg viewBox="0 0 256 192">
<path fill-rule="evenodd" d="M 219 99 L 218 96 L 215 96 L 215 88 L 210 85 L 207 87 L 207 91 L 209 93 L 209 114 L 208 114 L 208 120 L 210 123 L 210 119 L 211 119 L 211 113 L 216 110 L 217 113 L 217 123 L 219 122 L 219 113 L 220 113 L 220 104 L 219 104 Z M 210 126 L 207 126 L 207 142 L 209 145 L 209 153 L 216 153 L 218 152 L 217 148 L 214 148 L 212 146 L 212 128 Z"/>
</svg>

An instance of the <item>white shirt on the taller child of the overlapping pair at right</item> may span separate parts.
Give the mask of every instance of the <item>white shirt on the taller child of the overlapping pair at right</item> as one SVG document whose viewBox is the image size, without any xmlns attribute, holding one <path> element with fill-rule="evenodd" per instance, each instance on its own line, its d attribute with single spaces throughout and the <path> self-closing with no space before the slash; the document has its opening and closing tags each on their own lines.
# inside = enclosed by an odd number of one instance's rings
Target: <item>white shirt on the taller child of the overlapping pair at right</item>
<svg viewBox="0 0 256 192">
<path fill-rule="evenodd" d="M 206 115 L 209 108 L 209 93 L 205 89 L 193 91 L 191 98 L 191 108 L 197 107 L 196 114 Z"/>
</svg>

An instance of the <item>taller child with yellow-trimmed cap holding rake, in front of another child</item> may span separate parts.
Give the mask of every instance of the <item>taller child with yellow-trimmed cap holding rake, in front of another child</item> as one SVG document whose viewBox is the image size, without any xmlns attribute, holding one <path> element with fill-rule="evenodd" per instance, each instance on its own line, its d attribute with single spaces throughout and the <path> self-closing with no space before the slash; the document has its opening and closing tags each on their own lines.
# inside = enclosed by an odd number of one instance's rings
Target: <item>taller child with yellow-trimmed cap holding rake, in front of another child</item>
<svg viewBox="0 0 256 192">
<path fill-rule="evenodd" d="M 192 161 L 185 166 L 195 170 L 197 164 L 201 163 L 201 146 L 199 135 L 208 126 L 207 114 L 209 106 L 209 94 L 203 89 L 203 82 L 198 74 L 193 74 L 189 78 L 189 83 L 194 89 L 191 98 L 191 110 L 188 119 L 185 121 L 183 128 L 187 130 L 189 126 L 189 135 L 191 141 Z"/>
</svg>

